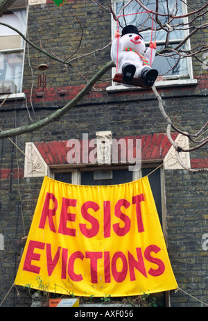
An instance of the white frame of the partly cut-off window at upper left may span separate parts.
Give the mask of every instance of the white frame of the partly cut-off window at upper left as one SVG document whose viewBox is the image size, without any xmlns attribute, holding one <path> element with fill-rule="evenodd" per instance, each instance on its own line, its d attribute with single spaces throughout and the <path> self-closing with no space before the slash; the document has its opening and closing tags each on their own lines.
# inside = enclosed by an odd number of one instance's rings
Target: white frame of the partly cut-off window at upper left
<svg viewBox="0 0 208 321">
<path fill-rule="evenodd" d="M 26 26 L 25 30 L 27 30 L 27 23 L 28 23 L 28 6 L 25 6 L 25 2 L 20 0 L 19 2 L 17 1 L 17 5 L 12 5 L 10 8 L 8 8 L 8 12 L 13 12 L 15 10 L 25 10 L 26 11 Z M 1 35 L 0 35 L 0 40 L 1 40 Z M 0 101 L 7 99 L 7 100 L 12 100 L 12 99 L 25 99 L 26 94 L 22 92 L 22 85 L 23 85 L 23 76 L 24 76 L 24 60 L 25 60 L 25 51 L 26 51 L 26 42 L 23 41 L 23 45 L 19 48 L 12 48 L 12 49 L 2 49 L 0 50 L 0 53 L 15 53 L 15 52 L 21 52 L 23 53 L 22 55 L 22 68 L 21 68 L 21 85 L 19 88 L 19 92 L 14 93 L 14 94 L 1 94 L 0 96 Z"/>
</svg>

